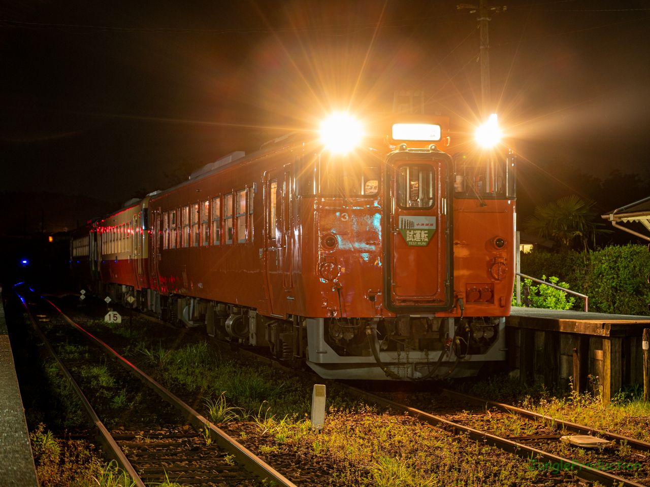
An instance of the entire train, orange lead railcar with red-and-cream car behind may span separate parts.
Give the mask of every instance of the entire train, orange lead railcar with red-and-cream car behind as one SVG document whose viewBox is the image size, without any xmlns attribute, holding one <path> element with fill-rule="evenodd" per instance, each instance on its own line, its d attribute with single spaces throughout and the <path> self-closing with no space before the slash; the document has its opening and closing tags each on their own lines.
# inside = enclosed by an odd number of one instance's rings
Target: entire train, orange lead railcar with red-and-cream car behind
<svg viewBox="0 0 650 487">
<path fill-rule="evenodd" d="M 103 242 L 120 225 L 138 242 L 109 237 L 105 290 L 325 378 L 463 377 L 505 360 L 513 155 L 449 155 L 442 116 L 376 126 L 345 154 L 294 132 L 100 221 Z"/>
</svg>

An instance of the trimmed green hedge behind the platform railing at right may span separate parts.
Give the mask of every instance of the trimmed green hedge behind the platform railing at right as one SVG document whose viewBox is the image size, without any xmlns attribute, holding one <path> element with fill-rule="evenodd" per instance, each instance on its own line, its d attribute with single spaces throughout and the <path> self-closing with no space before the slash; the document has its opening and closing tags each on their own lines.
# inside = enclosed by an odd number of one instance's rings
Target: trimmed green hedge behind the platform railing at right
<svg viewBox="0 0 650 487">
<path fill-rule="evenodd" d="M 650 316 L 650 253 L 645 245 L 611 245 L 595 251 L 521 254 L 521 272 L 556 276 L 589 296 L 589 310 Z M 578 298 L 574 309 L 582 308 Z"/>
</svg>

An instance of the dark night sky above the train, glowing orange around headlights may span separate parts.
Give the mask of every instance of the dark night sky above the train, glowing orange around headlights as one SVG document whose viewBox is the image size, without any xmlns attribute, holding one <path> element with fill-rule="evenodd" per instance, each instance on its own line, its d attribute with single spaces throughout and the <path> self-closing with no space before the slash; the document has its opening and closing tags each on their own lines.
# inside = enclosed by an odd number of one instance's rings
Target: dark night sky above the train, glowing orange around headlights
<svg viewBox="0 0 650 487">
<path fill-rule="evenodd" d="M 0 191 L 122 202 L 331 110 L 390 111 L 396 89 L 471 131 L 478 14 L 456 4 L 5 2 Z M 562 168 L 646 177 L 650 1 L 506 5 L 490 22 L 492 97 L 522 204 L 549 199 L 543 181 L 580 192 Z"/>
</svg>

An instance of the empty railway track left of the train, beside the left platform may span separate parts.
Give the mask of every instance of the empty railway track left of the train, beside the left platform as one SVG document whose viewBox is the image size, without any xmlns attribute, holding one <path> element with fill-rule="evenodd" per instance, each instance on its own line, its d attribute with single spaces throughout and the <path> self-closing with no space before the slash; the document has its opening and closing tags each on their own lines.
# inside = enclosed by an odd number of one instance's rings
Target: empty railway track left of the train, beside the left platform
<svg viewBox="0 0 650 487">
<path fill-rule="evenodd" d="M 103 450 L 135 480 L 138 487 L 144 487 L 146 482 L 160 483 L 164 481 L 216 486 L 258 486 L 261 485 L 260 481 L 271 481 L 278 486 L 295 487 L 293 482 L 246 449 L 237 440 L 215 427 L 161 384 L 151 379 L 101 340 L 82 329 L 51 301 L 38 295 L 30 296 L 31 301 L 36 301 L 38 298 L 49 303 L 52 306 L 51 309 L 81 332 L 83 338 L 94 342 L 93 346 L 96 349 L 101 349 L 103 353 L 122 365 L 129 373 L 135 375 L 181 413 L 180 416 L 175 415 L 174 421 L 168 413 L 159 412 L 161 418 L 168 421 L 164 427 L 149 424 L 138 425 L 137 429 L 122 428 L 109 432 L 75 381 L 73 373 L 57 355 L 55 348 L 39 327 L 30 308 L 30 305 L 38 305 L 28 303 L 23 295 L 18 292 L 17 294 L 32 326 L 43 340 L 45 348 L 53 356 L 60 371 L 81 400 L 86 415 L 98 432 L 98 440 L 101 442 Z M 49 321 L 49 318 L 43 316 L 44 313 L 41 314 L 40 320 Z M 93 355 L 95 362 L 101 361 L 101 355 L 101 353 Z M 151 414 L 151 411 L 147 411 L 146 414 Z"/>
</svg>

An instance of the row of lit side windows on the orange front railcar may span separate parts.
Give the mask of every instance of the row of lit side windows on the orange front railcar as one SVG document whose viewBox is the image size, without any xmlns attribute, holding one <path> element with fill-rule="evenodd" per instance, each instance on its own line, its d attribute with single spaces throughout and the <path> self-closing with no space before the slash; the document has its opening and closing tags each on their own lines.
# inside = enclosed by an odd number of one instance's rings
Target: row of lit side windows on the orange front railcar
<svg viewBox="0 0 650 487">
<path fill-rule="evenodd" d="M 162 248 L 252 242 L 253 194 L 246 188 L 164 212 Z"/>
</svg>

